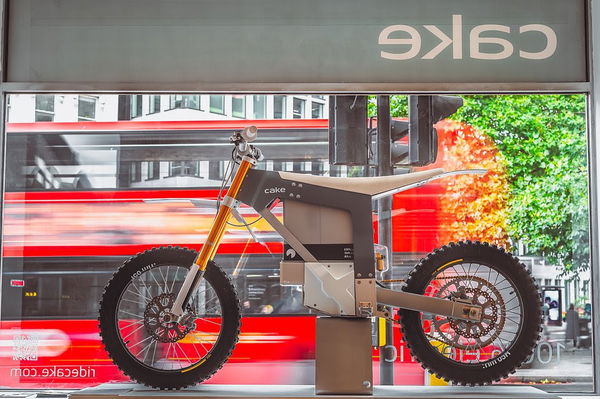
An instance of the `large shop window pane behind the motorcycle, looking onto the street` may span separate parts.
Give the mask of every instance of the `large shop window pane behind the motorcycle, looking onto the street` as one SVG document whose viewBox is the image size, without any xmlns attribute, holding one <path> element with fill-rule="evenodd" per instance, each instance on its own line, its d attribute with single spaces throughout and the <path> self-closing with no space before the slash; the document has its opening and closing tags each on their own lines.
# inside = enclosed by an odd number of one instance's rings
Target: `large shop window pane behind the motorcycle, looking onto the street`
<svg viewBox="0 0 600 399">
<path fill-rule="evenodd" d="M 41 95 L 39 100 L 36 97 L 34 109 L 31 94 L 22 102 L 14 101 L 16 96 L 9 95 L 11 108 L 26 104 L 27 109 L 11 109 L 12 118 L 23 113 L 31 121 L 32 112 L 44 111 L 65 120 L 58 101 L 51 109 L 49 100 Z M 221 105 L 224 111 L 222 96 L 212 97 L 219 99 L 212 105 Z M 558 105 L 553 102 L 555 97 L 560 100 Z M 96 107 L 112 101 L 92 94 L 69 98 L 79 101 L 70 101 L 68 115 L 72 118 L 77 112 L 82 121 L 97 119 Z M 177 107 L 185 105 L 183 96 L 163 98 L 175 98 Z M 323 103 L 321 112 L 327 114 L 326 102 L 316 96 L 309 105 L 303 103 L 306 97 L 287 98 L 293 101 L 288 104 L 293 105 L 293 116 L 307 117 L 310 112 L 316 117 L 316 103 Z M 147 96 L 147 100 L 149 110 L 160 109 L 160 96 Z M 499 383 L 563 394 L 590 392 L 594 384 L 591 298 L 596 294 L 590 282 L 596 271 L 589 264 L 587 241 L 585 97 L 465 96 L 465 101 L 464 112 L 436 125 L 440 157 L 435 166 L 491 172 L 483 177 L 440 179 L 395 194 L 391 279 L 405 280 L 425 254 L 449 241 L 480 239 L 518 252 L 541 288 L 543 331 L 531 358 Z M 260 168 L 339 177 L 365 174 L 360 167 L 330 165 L 327 123 L 309 130 L 299 128 L 297 122 L 282 121 L 286 118 L 285 103 L 286 96 L 273 96 L 273 117 L 282 127 L 259 134 L 255 144 L 266 157 Z M 483 103 L 488 105 L 481 107 Z M 525 103 L 527 107 L 523 107 Z M 107 109 L 118 108 L 107 104 Z M 187 105 L 194 106 L 193 100 Z M 502 109 L 510 112 L 498 112 Z M 494 111 L 491 116 L 490 110 Z M 521 113 L 524 116 L 517 117 Z M 119 122 L 116 116 L 109 128 L 97 130 L 93 130 L 96 124 L 90 123 L 30 124 L 27 129 L 6 125 L 4 192 L 0 196 L 0 315 L 3 333 L 13 334 L 5 337 L 7 348 L 15 353 L 0 358 L 2 387 L 67 389 L 125 382 L 106 357 L 98 335 L 98 303 L 103 288 L 116 268 L 137 252 L 170 243 L 201 245 L 214 220 L 214 207 L 147 200 L 216 198 L 231 156 L 229 132 L 212 129 L 214 120 L 186 125 L 167 120 L 167 112 L 157 114 L 155 117 L 162 119 L 145 121 L 139 128 L 135 121 Z M 207 119 L 211 118 L 208 115 Z M 481 124 L 486 118 L 493 122 L 487 128 L 469 125 Z M 510 118 L 514 123 L 506 125 Z M 508 128 L 497 128 L 499 123 Z M 261 142 L 269 145 L 261 146 Z M 564 204 L 561 201 L 565 198 L 576 206 L 553 208 Z M 249 208 L 241 210 L 249 222 L 259 217 Z M 535 212 L 552 217 L 531 216 Z M 275 207 L 274 213 L 280 217 L 281 206 Z M 268 383 L 297 383 L 304 378 L 298 376 L 299 365 L 313 361 L 310 334 L 315 315 L 302 306 L 302 292 L 297 287 L 279 284 L 279 238 L 264 221 L 253 228 L 273 254 L 261 244 L 249 243 L 250 235 L 244 228 L 231 228 L 225 233 L 218 262 L 233 278 L 243 314 L 251 316 L 245 319 L 245 328 L 260 337 L 285 337 L 290 351 L 286 352 L 289 359 L 282 361 L 271 355 L 273 340 L 242 341 L 240 345 L 247 345 L 251 355 L 237 359 L 236 364 L 268 375 Z M 293 319 L 289 318 L 292 315 Z M 34 342 L 39 344 L 37 360 L 13 359 L 25 353 L 33 356 L 26 350 Z M 411 359 L 406 343 L 398 336 L 395 342 L 395 365 L 402 370 L 396 382 L 431 382 Z M 68 362 L 74 367 L 88 367 L 86 359 L 94 359 L 94 365 L 89 366 L 95 373 L 91 380 L 40 380 L 25 375 L 32 364 L 55 367 Z M 274 362 L 278 370 L 289 373 L 274 377 L 269 372 L 272 369 L 264 366 Z M 312 371 L 305 374 L 312 375 Z M 310 383 L 306 379 L 300 382 Z"/>
</svg>

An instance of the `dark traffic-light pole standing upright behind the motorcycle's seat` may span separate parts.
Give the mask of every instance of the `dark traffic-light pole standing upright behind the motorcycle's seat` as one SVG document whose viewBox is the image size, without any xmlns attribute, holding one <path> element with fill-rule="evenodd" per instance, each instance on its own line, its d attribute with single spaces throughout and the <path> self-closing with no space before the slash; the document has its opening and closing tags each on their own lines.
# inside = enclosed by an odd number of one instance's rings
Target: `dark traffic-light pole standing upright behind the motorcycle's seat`
<svg viewBox="0 0 600 399">
<path fill-rule="evenodd" d="M 391 120 L 390 120 L 390 97 L 377 97 L 377 175 L 389 176 L 394 173 L 391 159 Z M 378 237 L 379 244 L 385 245 L 389 249 L 390 257 L 392 254 L 392 197 L 382 198 L 377 203 Z M 392 260 L 388 259 L 390 268 L 383 274 L 383 279 L 392 278 Z M 392 309 L 388 309 L 390 313 Z M 385 340 L 379 347 L 379 381 L 381 385 L 394 385 L 394 360 L 396 351 L 394 350 L 394 326 L 391 321 L 385 322 Z M 380 334 L 383 331 L 379 331 Z M 380 342 L 382 342 L 380 340 Z"/>
</svg>

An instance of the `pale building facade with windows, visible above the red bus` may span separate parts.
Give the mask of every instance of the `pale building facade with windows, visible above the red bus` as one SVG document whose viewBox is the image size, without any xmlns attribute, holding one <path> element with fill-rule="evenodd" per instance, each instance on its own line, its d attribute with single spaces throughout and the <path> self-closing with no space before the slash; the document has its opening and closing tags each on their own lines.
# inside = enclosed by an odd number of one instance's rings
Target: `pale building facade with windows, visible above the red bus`
<svg viewBox="0 0 600 399">
<path fill-rule="evenodd" d="M 7 120 L 15 122 L 109 122 L 117 120 L 321 119 L 327 97 L 319 95 L 76 95 L 9 96 Z"/>
</svg>

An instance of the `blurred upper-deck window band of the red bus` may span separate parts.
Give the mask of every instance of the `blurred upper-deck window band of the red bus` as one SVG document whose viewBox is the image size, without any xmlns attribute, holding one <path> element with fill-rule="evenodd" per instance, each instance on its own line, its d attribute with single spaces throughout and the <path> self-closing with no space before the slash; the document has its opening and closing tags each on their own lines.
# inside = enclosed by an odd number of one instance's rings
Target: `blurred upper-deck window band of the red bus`
<svg viewBox="0 0 600 399">
<path fill-rule="evenodd" d="M 152 124 L 165 126 L 164 122 Z M 94 127 L 58 125 L 54 131 L 17 132 L 16 125 L 9 124 L 6 141 L 11 148 L 7 153 L 11 172 L 6 175 L 6 189 L 124 189 L 143 187 L 137 184 L 142 180 L 158 180 L 152 187 L 157 184 L 173 188 L 219 186 L 222 174 L 217 173 L 215 179 L 214 168 L 222 171 L 228 162 L 231 150 L 226 144 L 227 133 L 220 130 L 198 133 L 193 129 L 166 133 L 145 131 L 150 125 L 138 130 L 126 123 L 121 128 L 97 125 L 95 132 Z M 261 140 L 264 145 L 281 146 L 284 152 L 273 154 L 275 157 L 309 158 L 313 161 L 308 162 L 323 163 L 327 157 L 326 124 L 306 130 L 299 138 L 289 134 L 292 129 L 295 128 L 283 124 L 281 129 L 272 129 Z M 184 154 L 189 156 L 188 160 L 176 160 Z M 147 160 L 137 161 L 139 159 Z M 338 168 L 332 167 L 332 170 Z M 175 176 L 201 179 L 174 180 Z"/>
</svg>

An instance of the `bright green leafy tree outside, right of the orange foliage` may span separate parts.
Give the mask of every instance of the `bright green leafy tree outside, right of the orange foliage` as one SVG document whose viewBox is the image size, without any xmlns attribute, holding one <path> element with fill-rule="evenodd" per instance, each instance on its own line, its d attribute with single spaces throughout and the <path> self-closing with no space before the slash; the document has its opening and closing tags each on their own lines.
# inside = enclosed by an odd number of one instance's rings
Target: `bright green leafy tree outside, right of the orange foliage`
<svg viewBox="0 0 600 399">
<path fill-rule="evenodd" d="M 453 116 L 489 135 L 506 161 L 509 234 L 528 252 L 589 267 L 585 96 L 465 96 Z"/>
</svg>

